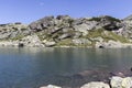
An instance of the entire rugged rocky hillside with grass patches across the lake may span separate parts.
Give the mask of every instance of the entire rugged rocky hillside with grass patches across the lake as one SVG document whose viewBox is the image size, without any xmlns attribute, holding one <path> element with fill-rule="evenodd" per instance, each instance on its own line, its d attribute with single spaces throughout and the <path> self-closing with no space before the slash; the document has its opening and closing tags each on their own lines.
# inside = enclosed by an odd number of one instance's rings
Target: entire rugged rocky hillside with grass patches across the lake
<svg viewBox="0 0 132 88">
<path fill-rule="evenodd" d="M 0 24 L 1 46 L 132 47 L 132 16 L 45 16 L 30 24 Z"/>
</svg>

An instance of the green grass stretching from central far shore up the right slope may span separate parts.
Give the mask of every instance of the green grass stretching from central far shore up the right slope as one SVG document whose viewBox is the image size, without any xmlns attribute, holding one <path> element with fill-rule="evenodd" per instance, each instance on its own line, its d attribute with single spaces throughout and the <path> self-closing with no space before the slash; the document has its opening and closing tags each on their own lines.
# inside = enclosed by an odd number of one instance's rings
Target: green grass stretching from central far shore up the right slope
<svg viewBox="0 0 132 88">
<path fill-rule="evenodd" d="M 107 33 L 105 33 L 107 32 Z M 102 37 L 103 42 L 109 42 L 111 41 L 119 41 L 121 43 L 129 43 L 129 40 L 120 36 L 111 31 L 106 31 L 105 29 L 98 29 L 98 30 L 91 30 L 88 32 L 88 34 L 86 36 L 82 36 L 84 38 L 88 38 L 91 41 L 91 44 L 79 44 L 79 45 L 75 45 L 72 42 L 72 38 L 65 38 L 62 40 L 57 43 L 57 46 L 62 46 L 62 45 L 67 45 L 67 46 L 95 46 L 96 42 L 98 42 L 99 40 L 94 40 L 96 37 Z"/>
</svg>

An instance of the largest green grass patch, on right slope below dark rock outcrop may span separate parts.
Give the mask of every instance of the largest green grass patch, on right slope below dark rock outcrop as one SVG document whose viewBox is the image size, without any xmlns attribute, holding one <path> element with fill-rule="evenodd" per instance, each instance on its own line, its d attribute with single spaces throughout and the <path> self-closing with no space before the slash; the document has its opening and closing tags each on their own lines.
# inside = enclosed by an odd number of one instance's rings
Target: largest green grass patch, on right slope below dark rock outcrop
<svg viewBox="0 0 132 88">
<path fill-rule="evenodd" d="M 105 33 L 105 32 L 107 32 L 107 33 Z M 92 42 L 91 46 L 94 46 L 96 44 L 96 42 L 98 42 L 98 40 L 92 40 L 96 37 L 102 37 L 103 42 L 109 42 L 111 40 L 111 41 L 117 41 L 117 42 L 119 41 L 121 43 L 130 43 L 128 38 L 125 38 L 121 35 L 118 35 L 111 31 L 106 31 L 105 29 L 91 30 L 84 37 L 89 38 Z"/>
</svg>

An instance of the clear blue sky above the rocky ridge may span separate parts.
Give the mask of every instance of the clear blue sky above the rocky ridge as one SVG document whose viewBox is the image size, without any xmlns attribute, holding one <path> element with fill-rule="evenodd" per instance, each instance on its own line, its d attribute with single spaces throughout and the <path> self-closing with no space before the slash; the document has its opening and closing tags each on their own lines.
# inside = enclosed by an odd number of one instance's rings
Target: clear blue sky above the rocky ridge
<svg viewBox="0 0 132 88">
<path fill-rule="evenodd" d="M 46 15 L 73 18 L 132 14 L 132 0 L 0 0 L 0 23 L 30 23 Z"/>
</svg>

